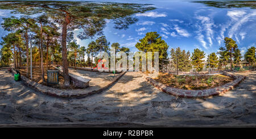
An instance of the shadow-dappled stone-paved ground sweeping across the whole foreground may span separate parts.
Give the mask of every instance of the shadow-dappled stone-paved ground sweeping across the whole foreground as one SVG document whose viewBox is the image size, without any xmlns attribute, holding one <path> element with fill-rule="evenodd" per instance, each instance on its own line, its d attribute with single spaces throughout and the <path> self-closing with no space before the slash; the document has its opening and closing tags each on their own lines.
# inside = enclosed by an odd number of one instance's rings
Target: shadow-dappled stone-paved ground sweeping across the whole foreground
<svg viewBox="0 0 256 139">
<path fill-rule="evenodd" d="M 256 127 L 256 71 L 236 89 L 208 99 L 175 98 L 127 72 L 108 90 L 82 99 L 40 94 L 0 70 L 2 127 Z"/>
</svg>

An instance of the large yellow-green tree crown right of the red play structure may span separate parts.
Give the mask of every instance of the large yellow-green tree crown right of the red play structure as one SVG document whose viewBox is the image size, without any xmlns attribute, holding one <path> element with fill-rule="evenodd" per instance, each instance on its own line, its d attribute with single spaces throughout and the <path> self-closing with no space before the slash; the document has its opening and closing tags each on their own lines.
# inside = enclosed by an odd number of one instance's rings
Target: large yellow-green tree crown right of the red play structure
<svg viewBox="0 0 256 139">
<path fill-rule="evenodd" d="M 166 41 L 157 32 L 147 32 L 143 39 L 135 47 L 142 52 L 159 52 L 159 68 L 162 69 L 164 64 L 168 64 L 168 45 Z M 154 53 L 152 53 L 152 61 L 154 61 Z"/>
</svg>

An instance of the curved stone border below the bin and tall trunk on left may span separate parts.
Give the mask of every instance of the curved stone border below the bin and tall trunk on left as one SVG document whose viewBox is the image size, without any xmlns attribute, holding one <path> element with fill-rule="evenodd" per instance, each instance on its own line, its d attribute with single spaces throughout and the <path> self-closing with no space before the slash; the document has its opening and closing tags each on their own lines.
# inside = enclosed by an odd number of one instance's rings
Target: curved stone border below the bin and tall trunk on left
<svg viewBox="0 0 256 139">
<path fill-rule="evenodd" d="M 15 73 L 16 71 L 11 68 L 12 73 Z M 104 91 L 108 89 L 110 86 L 112 86 L 115 82 L 118 81 L 119 78 L 122 77 L 126 72 L 121 73 L 118 75 L 117 78 L 114 79 L 114 81 L 110 82 L 108 85 L 98 89 L 98 90 L 93 90 L 93 91 L 86 91 L 86 89 L 76 89 L 76 90 L 60 90 L 56 89 L 53 87 L 48 87 L 41 85 L 40 83 L 31 81 L 27 77 L 24 77 L 23 75 L 20 76 L 20 79 L 27 85 L 32 87 L 33 89 L 42 92 L 43 94 L 46 95 L 51 95 L 59 98 L 84 98 L 85 96 L 93 95 L 98 92 Z"/>
</svg>

